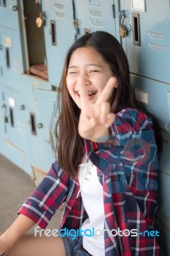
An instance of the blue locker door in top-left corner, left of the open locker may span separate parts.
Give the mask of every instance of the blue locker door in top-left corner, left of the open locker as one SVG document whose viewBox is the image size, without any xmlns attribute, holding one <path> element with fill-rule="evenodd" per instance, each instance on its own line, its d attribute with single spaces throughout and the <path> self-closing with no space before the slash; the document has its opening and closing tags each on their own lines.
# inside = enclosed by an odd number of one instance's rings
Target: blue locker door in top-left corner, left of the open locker
<svg viewBox="0 0 170 256">
<path fill-rule="evenodd" d="M 1 80 L 9 81 L 24 72 L 17 0 L 0 5 Z"/>
</svg>

